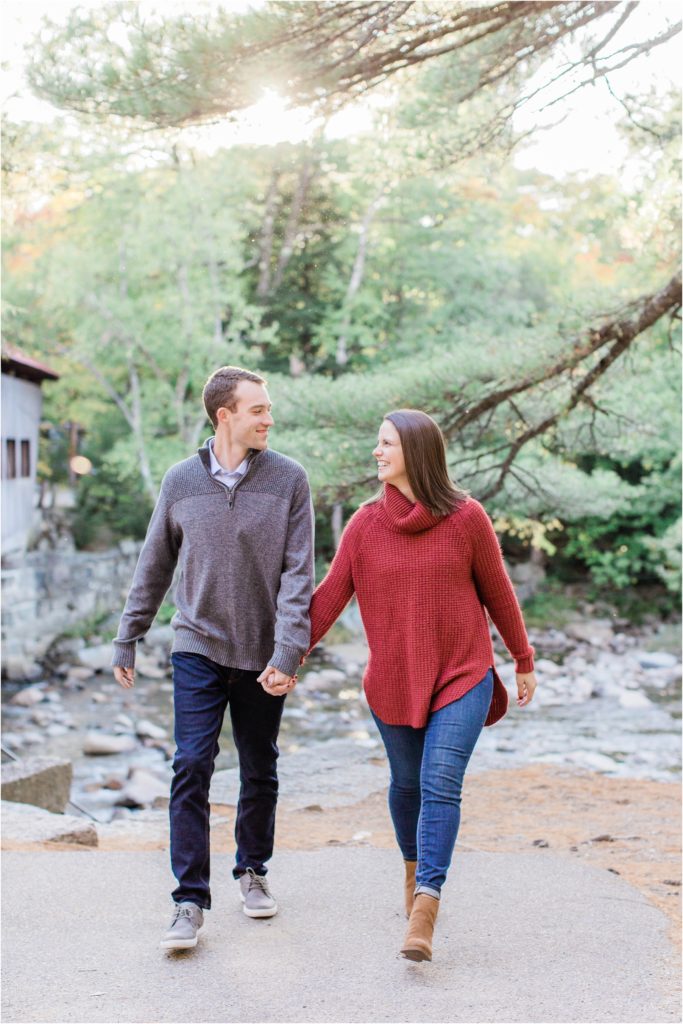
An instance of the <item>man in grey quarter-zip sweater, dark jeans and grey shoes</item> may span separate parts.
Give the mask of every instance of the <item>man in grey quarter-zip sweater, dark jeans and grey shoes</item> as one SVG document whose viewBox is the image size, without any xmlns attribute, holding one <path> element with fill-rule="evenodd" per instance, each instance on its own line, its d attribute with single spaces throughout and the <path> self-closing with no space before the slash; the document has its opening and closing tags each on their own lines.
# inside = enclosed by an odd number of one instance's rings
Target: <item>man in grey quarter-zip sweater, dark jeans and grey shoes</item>
<svg viewBox="0 0 683 1024">
<path fill-rule="evenodd" d="M 215 436 L 168 470 L 114 643 L 117 681 L 134 684 L 135 644 L 176 564 L 176 753 L 171 783 L 175 913 L 161 945 L 197 945 L 209 888 L 209 785 L 229 708 L 240 761 L 236 865 L 244 912 L 270 918 L 266 882 L 278 801 L 278 732 L 308 647 L 313 515 L 304 469 L 268 450 L 265 381 L 221 367 L 204 388 Z"/>
</svg>

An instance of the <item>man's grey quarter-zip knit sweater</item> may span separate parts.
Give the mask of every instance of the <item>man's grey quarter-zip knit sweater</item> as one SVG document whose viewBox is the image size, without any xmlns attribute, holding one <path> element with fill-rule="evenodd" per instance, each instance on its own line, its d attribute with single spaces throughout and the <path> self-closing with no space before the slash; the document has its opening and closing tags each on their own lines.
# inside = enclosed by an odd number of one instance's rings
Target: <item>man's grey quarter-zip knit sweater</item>
<svg viewBox="0 0 683 1024">
<path fill-rule="evenodd" d="M 172 466 L 137 560 L 112 664 L 135 665 L 176 564 L 173 650 L 219 665 L 294 675 L 308 649 L 313 510 L 306 472 L 279 452 L 252 452 L 230 488 L 211 475 L 208 440 Z"/>
</svg>

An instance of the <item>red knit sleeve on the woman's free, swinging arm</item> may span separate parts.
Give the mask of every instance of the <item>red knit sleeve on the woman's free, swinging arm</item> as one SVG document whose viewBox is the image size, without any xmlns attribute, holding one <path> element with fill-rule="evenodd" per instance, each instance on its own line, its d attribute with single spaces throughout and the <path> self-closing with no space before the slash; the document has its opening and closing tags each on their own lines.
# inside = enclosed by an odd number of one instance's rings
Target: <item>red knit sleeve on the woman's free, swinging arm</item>
<svg viewBox="0 0 683 1024">
<path fill-rule="evenodd" d="M 532 672 L 533 647 L 526 636 L 521 608 L 503 562 L 496 530 L 483 506 L 473 499 L 470 504 L 472 575 L 477 593 L 514 658 L 515 671 Z"/>
</svg>

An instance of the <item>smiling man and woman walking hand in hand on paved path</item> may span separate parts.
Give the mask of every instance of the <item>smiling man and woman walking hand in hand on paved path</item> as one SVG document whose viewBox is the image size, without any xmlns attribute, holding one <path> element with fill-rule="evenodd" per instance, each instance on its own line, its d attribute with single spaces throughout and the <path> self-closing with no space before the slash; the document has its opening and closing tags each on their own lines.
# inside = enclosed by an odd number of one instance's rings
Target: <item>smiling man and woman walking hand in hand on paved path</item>
<svg viewBox="0 0 683 1024">
<path fill-rule="evenodd" d="M 308 480 L 298 463 L 268 449 L 266 382 L 222 367 L 203 397 L 214 436 L 164 476 L 114 641 L 116 678 L 131 687 L 136 642 L 179 564 L 170 801 L 177 886 L 161 945 L 195 946 L 211 906 L 209 786 L 226 709 L 241 781 L 232 874 L 246 914 L 276 912 L 266 863 L 283 706 L 305 655 L 355 594 L 370 647 L 364 686 L 387 752 L 405 868 L 401 953 L 431 959 L 465 769 L 482 727 L 508 705 L 486 610 L 514 657 L 520 707 L 536 688 L 533 649 L 490 520 L 449 478 L 434 421 L 413 410 L 388 413 L 373 452 L 383 488 L 349 520 L 311 597 Z"/>
</svg>

